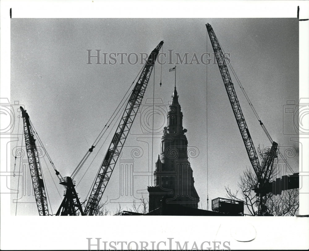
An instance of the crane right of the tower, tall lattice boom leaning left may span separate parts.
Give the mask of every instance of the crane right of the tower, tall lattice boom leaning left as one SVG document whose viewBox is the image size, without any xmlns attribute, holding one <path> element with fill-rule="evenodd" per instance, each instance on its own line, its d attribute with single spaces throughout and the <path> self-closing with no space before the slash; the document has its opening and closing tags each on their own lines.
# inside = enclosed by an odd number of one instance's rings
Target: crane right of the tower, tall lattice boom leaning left
<svg viewBox="0 0 309 251">
<path fill-rule="evenodd" d="M 243 139 L 243 143 L 245 144 L 245 148 L 248 153 L 249 160 L 251 162 L 252 168 L 256 174 L 257 182 L 255 188 L 256 191 L 259 191 L 257 193 L 257 196 L 260 197 L 259 200 L 259 206 L 258 206 L 258 215 L 268 215 L 267 212 L 267 206 L 266 206 L 266 190 L 263 188 L 269 184 L 269 179 L 272 178 L 272 170 L 273 170 L 273 161 L 277 157 L 277 150 L 278 150 L 278 144 L 273 141 L 272 147 L 267 151 L 265 154 L 262 164 L 260 165 L 256 150 L 253 145 L 253 141 L 251 138 L 251 135 L 248 130 L 247 123 L 245 121 L 245 118 L 243 116 L 243 112 L 240 108 L 239 101 L 234 89 L 233 82 L 231 80 L 230 73 L 227 69 L 225 58 L 222 52 L 222 48 L 219 44 L 219 41 L 214 33 L 213 28 L 209 23 L 206 24 L 206 28 L 209 34 L 209 38 L 211 41 L 212 48 L 214 50 L 216 60 L 218 63 L 218 67 L 221 73 L 221 77 L 223 79 L 223 83 L 227 92 L 227 95 L 229 97 L 231 107 L 233 110 L 233 113 L 235 115 L 235 119 L 240 131 L 240 134 Z M 263 127 L 263 123 L 260 121 L 260 125 Z"/>
</svg>

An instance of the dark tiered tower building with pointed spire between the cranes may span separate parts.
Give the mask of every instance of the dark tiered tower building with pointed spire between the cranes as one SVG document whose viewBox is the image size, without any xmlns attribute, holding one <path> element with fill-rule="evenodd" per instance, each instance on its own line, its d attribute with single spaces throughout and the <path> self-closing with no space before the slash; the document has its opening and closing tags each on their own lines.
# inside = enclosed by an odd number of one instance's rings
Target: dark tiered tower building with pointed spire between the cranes
<svg viewBox="0 0 309 251">
<path fill-rule="evenodd" d="M 148 187 L 149 211 L 166 204 L 197 208 L 200 201 L 194 188 L 193 171 L 188 161 L 187 129 L 182 126 L 182 112 L 176 86 L 167 113 L 167 126 L 161 138 L 161 158 L 154 171 L 154 186 Z"/>
</svg>

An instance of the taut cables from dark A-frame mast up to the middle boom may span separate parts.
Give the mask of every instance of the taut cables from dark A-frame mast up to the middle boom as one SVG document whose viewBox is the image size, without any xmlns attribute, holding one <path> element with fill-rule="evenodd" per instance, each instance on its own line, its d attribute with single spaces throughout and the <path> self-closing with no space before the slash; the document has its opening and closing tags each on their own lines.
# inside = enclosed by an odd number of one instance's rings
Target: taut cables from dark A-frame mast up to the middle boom
<svg viewBox="0 0 309 251">
<path fill-rule="evenodd" d="M 147 61 L 144 63 L 144 66 L 146 65 Z M 142 68 L 143 69 L 143 68 Z M 70 177 L 72 179 L 75 178 L 75 176 L 78 174 L 78 172 L 80 171 L 80 169 L 83 167 L 84 163 L 87 161 L 89 155 L 92 153 L 93 149 L 95 148 L 95 146 L 99 143 L 99 141 L 101 140 L 101 138 L 103 137 L 104 133 L 107 131 L 107 129 L 109 128 L 109 126 L 111 125 L 112 121 L 116 118 L 118 112 L 120 110 L 118 110 L 118 108 L 120 107 L 120 109 L 123 107 L 123 105 L 125 104 L 125 102 L 121 105 L 122 101 L 124 100 L 125 96 L 130 92 L 130 89 L 132 87 L 132 85 L 134 84 L 134 82 L 136 81 L 138 75 L 141 73 L 142 69 L 139 71 L 139 73 L 136 75 L 135 79 L 133 80 L 132 84 L 129 86 L 129 89 L 126 91 L 125 95 L 123 96 L 123 98 L 121 99 L 121 101 L 119 102 L 118 106 L 116 107 L 115 111 L 113 112 L 113 114 L 111 115 L 111 117 L 108 119 L 107 123 L 105 124 L 104 128 L 101 130 L 101 132 L 99 133 L 99 135 L 97 136 L 97 138 L 95 139 L 94 143 L 92 144 L 91 148 L 87 151 L 87 153 L 84 155 L 84 157 L 82 158 L 82 160 L 78 163 L 78 165 L 76 166 L 76 168 L 74 169 L 74 171 L 72 172 L 72 174 L 70 175 Z M 118 110 L 118 111 L 117 111 Z M 117 112 L 117 113 L 116 113 Z M 116 113 L 116 115 L 115 115 Z M 115 115 L 115 116 L 114 116 Z M 114 116 L 114 117 L 113 117 Z M 111 120 L 112 119 L 112 120 Z M 109 123 L 110 122 L 110 123 Z M 109 124 L 108 124 L 109 123 Z M 104 141 L 105 142 L 105 141 Z"/>
</svg>

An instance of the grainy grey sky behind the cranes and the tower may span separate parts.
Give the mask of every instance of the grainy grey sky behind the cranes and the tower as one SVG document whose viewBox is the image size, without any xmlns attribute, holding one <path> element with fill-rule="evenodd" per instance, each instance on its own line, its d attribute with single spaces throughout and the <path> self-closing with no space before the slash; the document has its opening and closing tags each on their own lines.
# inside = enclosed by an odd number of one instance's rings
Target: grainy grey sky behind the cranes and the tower
<svg viewBox="0 0 309 251">
<path fill-rule="evenodd" d="M 71 175 L 142 68 L 140 63 L 133 64 L 134 54 L 130 60 L 124 57 L 123 64 L 120 56 L 114 56 L 115 64 L 113 60 L 112 64 L 95 64 L 95 58 L 91 58 L 92 64 L 87 64 L 87 50 L 91 50 L 91 55 L 96 55 L 95 50 L 108 53 L 107 56 L 135 53 L 140 61 L 140 53 L 149 54 L 164 40 L 167 63 L 162 68 L 157 63 L 151 74 L 139 113 L 102 197 L 108 200 L 112 214 L 119 203 L 126 210 L 132 208 L 134 199 L 142 195 L 148 197 L 151 178 L 145 173 L 151 172 L 151 165 L 155 169 L 154 162 L 160 152 L 160 138 L 167 123 L 166 112 L 175 81 L 174 72 L 170 73 L 169 69 L 175 65 L 183 126 L 188 130 L 188 149 L 193 149 L 189 161 L 200 207 L 207 207 L 207 194 L 211 210 L 212 199 L 226 197 L 225 186 L 236 190 L 239 176 L 251 166 L 218 65 L 212 56 L 206 70 L 200 60 L 203 53 L 213 53 L 206 23 L 212 25 L 222 48 L 229 53 L 231 65 L 269 134 L 297 172 L 298 142 L 290 139 L 297 136 L 293 120 L 285 112 L 287 101 L 298 102 L 297 19 L 11 19 L 11 102 L 19 101 L 19 105 L 25 107 L 63 177 Z M 187 53 L 188 64 L 180 61 L 177 64 L 177 53 L 181 57 Z M 192 61 L 193 55 L 197 55 L 200 64 Z M 103 63 L 103 54 L 100 59 Z M 270 142 L 234 77 L 232 81 L 255 148 L 269 147 Z M 149 128 L 152 126 L 153 86 L 156 104 L 152 152 Z M 114 131 L 100 151 L 100 144 L 94 149 L 75 178 L 81 201 L 91 189 Z M 18 146 L 21 140 L 19 137 Z M 14 163 L 15 147 L 15 143 L 11 144 L 11 163 Z M 21 162 L 28 170 L 26 156 Z M 53 178 L 44 161 L 41 163 L 55 213 L 63 198 L 63 188 L 57 184 L 52 168 L 49 166 Z M 133 183 L 128 185 L 132 195 L 121 193 L 120 170 L 125 165 L 133 168 Z M 14 165 L 11 168 L 14 169 Z M 23 193 L 19 197 L 17 215 L 38 215 L 29 177 L 20 182 Z M 17 176 L 12 177 L 11 187 L 17 188 L 17 185 Z M 15 214 L 15 203 L 11 205 L 11 213 Z"/>
</svg>

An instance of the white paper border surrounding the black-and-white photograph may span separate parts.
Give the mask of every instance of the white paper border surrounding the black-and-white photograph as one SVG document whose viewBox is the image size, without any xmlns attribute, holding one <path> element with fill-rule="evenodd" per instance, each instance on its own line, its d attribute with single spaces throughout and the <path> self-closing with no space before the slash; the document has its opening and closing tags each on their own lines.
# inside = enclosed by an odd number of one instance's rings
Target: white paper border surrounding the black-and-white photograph
<svg viewBox="0 0 309 251">
<path fill-rule="evenodd" d="M 308 19 L 308 1 L 1 1 L 0 94 L 10 97 L 10 8 L 12 18 L 291 18 Z M 157 6 L 165 7 L 158 9 Z M 299 21 L 299 98 L 309 98 L 309 21 Z M 5 120 L 2 117 L 1 120 Z M 300 215 L 308 215 L 309 137 L 300 138 Z M 2 140 L 3 142 L 3 140 Z M 1 144 L 6 148 L 6 144 Z M 1 172 L 10 159 L 1 150 Z M 2 179 L 3 177 L 1 177 Z M 2 182 L 3 185 L 3 182 Z M 1 185 L 1 189 L 3 188 Z M 230 241 L 231 249 L 308 249 L 308 217 L 202 217 L 202 216 L 12 216 L 10 195 L 1 194 L 1 249 L 88 249 L 100 241 Z M 168 218 L 167 218 L 168 217 Z M 181 218 L 181 220 L 180 220 Z M 165 224 L 154 224 L 162 221 Z M 231 236 L 234 226 L 250 224 L 256 238 L 238 242 Z M 101 242 L 103 249 L 104 245 Z M 155 246 L 156 247 L 156 246 Z M 134 247 L 133 247 L 134 248 Z M 166 246 L 168 248 L 168 245 Z M 173 249 L 176 246 L 172 246 Z M 190 246 L 191 248 L 191 246 Z M 96 249 L 96 246 L 91 246 Z"/>
</svg>

